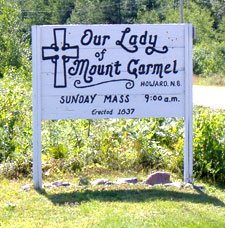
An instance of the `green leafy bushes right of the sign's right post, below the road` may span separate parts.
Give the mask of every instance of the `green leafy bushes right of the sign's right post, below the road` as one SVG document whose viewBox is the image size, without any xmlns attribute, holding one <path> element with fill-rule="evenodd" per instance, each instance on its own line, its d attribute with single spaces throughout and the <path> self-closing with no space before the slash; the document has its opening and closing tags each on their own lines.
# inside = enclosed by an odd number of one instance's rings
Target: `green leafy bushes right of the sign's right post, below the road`
<svg viewBox="0 0 225 228">
<path fill-rule="evenodd" d="M 201 177 L 225 180 L 225 113 L 196 110 L 194 170 Z"/>
</svg>

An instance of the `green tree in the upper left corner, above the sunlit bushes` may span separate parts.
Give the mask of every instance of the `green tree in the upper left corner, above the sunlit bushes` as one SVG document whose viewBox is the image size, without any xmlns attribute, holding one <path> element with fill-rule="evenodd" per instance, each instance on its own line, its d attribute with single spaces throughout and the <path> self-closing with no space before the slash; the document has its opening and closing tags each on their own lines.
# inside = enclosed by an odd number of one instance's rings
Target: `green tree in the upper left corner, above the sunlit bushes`
<svg viewBox="0 0 225 228">
<path fill-rule="evenodd" d="M 29 40 L 24 33 L 21 10 L 16 4 L 1 2 L 0 11 L 0 76 L 10 67 L 27 66 Z"/>
</svg>

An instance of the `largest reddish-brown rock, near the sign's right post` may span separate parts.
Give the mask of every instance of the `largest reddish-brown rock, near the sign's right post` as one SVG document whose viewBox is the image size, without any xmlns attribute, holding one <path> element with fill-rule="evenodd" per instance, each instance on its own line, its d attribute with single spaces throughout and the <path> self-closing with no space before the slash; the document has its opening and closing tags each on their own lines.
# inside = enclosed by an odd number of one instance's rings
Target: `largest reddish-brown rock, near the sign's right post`
<svg viewBox="0 0 225 228">
<path fill-rule="evenodd" d="M 145 184 L 166 184 L 170 183 L 170 174 L 166 172 L 152 173 L 145 181 Z"/>
</svg>

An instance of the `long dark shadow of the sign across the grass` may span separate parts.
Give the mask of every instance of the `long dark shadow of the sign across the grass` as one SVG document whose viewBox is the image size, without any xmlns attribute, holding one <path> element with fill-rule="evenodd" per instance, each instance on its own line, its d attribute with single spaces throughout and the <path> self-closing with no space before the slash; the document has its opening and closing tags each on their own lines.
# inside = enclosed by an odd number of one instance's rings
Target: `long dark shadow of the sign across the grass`
<svg viewBox="0 0 225 228">
<path fill-rule="evenodd" d="M 63 204 L 80 204 L 91 200 L 102 202 L 151 202 L 156 200 L 191 202 L 199 204 L 213 204 L 222 206 L 225 204 L 216 197 L 209 196 L 203 192 L 183 193 L 162 189 L 142 189 L 142 190 L 85 190 L 83 192 L 75 191 L 70 193 L 49 194 L 45 190 L 39 193 L 48 198 L 52 203 L 57 205 Z"/>
</svg>

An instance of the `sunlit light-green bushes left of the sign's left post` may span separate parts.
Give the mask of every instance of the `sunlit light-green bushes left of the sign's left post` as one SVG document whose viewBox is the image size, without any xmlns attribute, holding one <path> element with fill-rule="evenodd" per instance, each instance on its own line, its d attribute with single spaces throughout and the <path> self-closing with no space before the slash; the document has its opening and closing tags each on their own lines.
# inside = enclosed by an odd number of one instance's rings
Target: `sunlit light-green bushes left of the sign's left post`
<svg viewBox="0 0 225 228">
<path fill-rule="evenodd" d="M 31 168 L 31 85 L 24 75 L 12 68 L 0 80 L 0 163 L 14 176 Z"/>
</svg>

